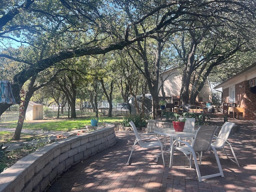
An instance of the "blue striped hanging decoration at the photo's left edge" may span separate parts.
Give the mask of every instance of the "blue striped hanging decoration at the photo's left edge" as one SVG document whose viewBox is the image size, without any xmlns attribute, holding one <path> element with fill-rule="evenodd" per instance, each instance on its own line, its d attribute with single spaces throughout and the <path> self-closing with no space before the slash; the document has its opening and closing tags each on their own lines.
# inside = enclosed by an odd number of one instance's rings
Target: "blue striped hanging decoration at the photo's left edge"
<svg viewBox="0 0 256 192">
<path fill-rule="evenodd" d="M 0 103 L 16 104 L 12 86 L 8 81 L 0 81 Z"/>
</svg>

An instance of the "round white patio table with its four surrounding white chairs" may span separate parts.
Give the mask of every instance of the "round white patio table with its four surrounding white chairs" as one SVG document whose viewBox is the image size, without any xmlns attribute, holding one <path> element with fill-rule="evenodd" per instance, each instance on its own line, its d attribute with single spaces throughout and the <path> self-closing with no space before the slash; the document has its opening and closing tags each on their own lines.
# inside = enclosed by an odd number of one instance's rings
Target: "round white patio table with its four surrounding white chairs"
<svg viewBox="0 0 256 192">
<path fill-rule="evenodd" d="M 139 135 L 135 124 L 131 121 L 130 125 L 132 126 L 132 129 L 134 131 L 136 140 L 128 158 L 127 165 L 130 164 L 130 158 L 132 156 L 132 152 L 134 151 L 134 147 L 136 146 L 136 144 L 139 144 L 142 148 L 160 147 L 161 153 L 157 155 L 156 162 L 158 162 L 158 156 L 162 155 L 164 166 L 164 154 L 170 154 L 170 168 L 172 168 L 173 165 L 174 152 L 182 152 L 188 158 L 190 168 L 192 167 L 192 160 L 194 160 L 194 165 L 196 168 L 199 182 L 202 182 L 203 179 L 208 179 L 216 176 L 224 177 L 216 149 L 223 149 L 227 158 L 239 167 L 239 163 L 234 153 L 234 150 L 231 144 L 228 142 L 228 136 L 232 130 L 232 127 L 235 124 L 232 122 L 225 122 L 220 128 L 218 136 L 216 136 L 215 133 L 218 130 L 218 126 L 199 126 L 199 128 L 195 130 L 194 122 L 194 118 L 186 118 L 183 132 L 177 132 L 172 128 L 156 128 L 154 130 L 154 133 Z M 164 136 L 164 142 L 160 140 L 159 136 Z M 166 149 L 166 137 L 170 137 L 170 146 L 168 149 Z M 232 158 L 228 156 L 228 153 L 225 150 L 226 144 L 229 146 L 232 152 Z M 202 163 L 202 155 L 204 154 L 204 152 L 208 151 L 214 152 L 219 172 L 202 176 L 200 173 L 199 165 L 201 165 Z M 198 160 L 196 154 L 198 154 Z"/>
</svg>

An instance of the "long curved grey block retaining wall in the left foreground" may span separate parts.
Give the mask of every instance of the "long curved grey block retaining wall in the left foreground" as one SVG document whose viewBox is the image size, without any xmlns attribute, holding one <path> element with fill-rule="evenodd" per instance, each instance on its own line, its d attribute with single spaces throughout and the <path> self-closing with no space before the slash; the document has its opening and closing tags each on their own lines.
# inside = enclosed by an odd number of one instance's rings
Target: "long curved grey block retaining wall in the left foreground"
<svg viewBox="0 0 256 192">
<path fill-rule="evenodd" d="M 0 174 L 0 192 L 42 192 L 56 176 L 116 144 L 114 126 L 54 142 Z"/>
</svg>

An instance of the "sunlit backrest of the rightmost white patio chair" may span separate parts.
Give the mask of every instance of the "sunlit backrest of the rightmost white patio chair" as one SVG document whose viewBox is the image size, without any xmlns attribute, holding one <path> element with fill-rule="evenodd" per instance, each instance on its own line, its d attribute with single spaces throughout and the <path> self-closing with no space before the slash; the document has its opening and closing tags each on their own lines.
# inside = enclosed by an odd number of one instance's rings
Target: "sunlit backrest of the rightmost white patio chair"
<svg viewBox="0 0 256 192">
<path fill-rule="evenodd" d="M 235 125 L 235 123 L 232 122 L 225 122 L 221 129 L 220 132 L 218 134 L 218 138 L 220 139 L 216 139 L 216 141 L 213 143 L 214 146 L 218 147 L 218 148 L 222 148 L 225 145 L 226 140 L 228 139 L 228 136 L 230 134 L 230 131 L 232 130 L 232 127 Z"/>
</svg>

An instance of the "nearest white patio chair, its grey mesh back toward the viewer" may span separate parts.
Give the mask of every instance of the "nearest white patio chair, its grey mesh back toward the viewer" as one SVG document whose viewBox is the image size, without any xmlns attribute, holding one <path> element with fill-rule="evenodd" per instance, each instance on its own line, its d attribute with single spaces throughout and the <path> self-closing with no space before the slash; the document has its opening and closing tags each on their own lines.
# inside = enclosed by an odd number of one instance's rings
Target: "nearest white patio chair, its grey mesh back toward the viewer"
<svg viewBox="0 0 256 192">
<path fill-rule="evenodd" d="M 196 173 L 197 173 L 199 182 L 202 182 L 202 179 L 212 178 L 216 176 L 224 177 L 216 149 L 213 146 L 211 146 L 212 139 L 217 129 L 218 129 L 218 126 L 200 126 L 196 132 L 196 136 L 193 140 L 192 146 L 188 142 L 184 142 L 182 140 L 175 140 L 171 148 L 170 168 L 172 167 L 172 163 L 173 163 L 174 150 L 180 150 L 188 158 L 190 168 L 192 165 L 192 158 L 194 159 L 194 163 L 196 166 Z M 177 142 L 182 142 L 186 144 L 186 146 L 179 146 L 174 149 L 174 146 L 176 145 Z M 198 161 L 196 159 L 196 153 L 200 158 L 200 156 L 202 156 L 202 153 L 209 151 L 210 148 L 212 148 L 212 150 L 214 151 L 214 156 L 218 164 L 219 172 L 216 174 L 201 176 L 200 169 L 198 166 Z M 188 155 L 190 155 L 190 157 Z"/>
</svg>

